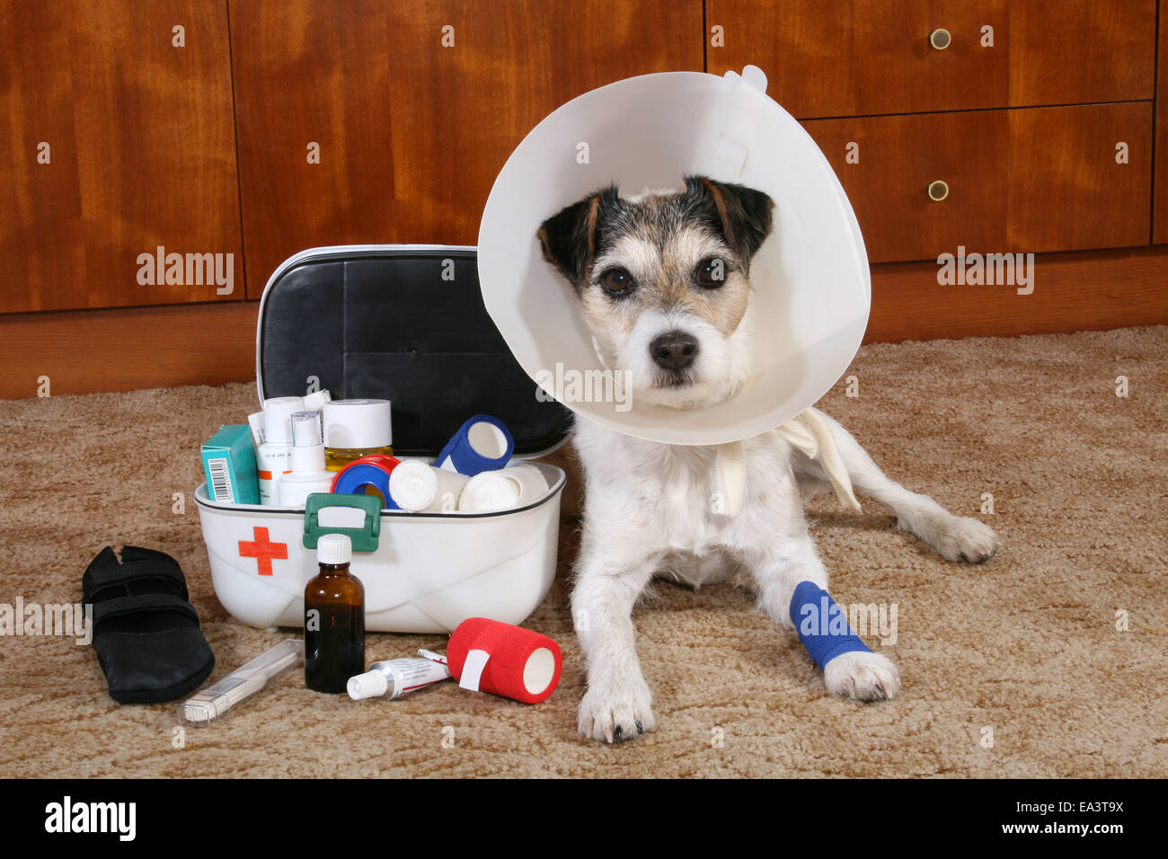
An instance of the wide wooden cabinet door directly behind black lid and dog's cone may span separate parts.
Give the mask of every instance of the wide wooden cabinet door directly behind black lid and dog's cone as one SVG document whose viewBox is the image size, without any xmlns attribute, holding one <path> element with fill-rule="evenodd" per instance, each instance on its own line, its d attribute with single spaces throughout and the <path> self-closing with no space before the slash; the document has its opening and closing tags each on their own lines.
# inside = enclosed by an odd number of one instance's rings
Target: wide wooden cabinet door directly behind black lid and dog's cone
<svg viewBox="0 0 1168 859">
<path fill-rule="evenodd" d="M 523 136 L 590 89 L 701 71 L 701 0 L 231 0 L 248 293 L 304 248 L 474 244 Z"/>
</svg>

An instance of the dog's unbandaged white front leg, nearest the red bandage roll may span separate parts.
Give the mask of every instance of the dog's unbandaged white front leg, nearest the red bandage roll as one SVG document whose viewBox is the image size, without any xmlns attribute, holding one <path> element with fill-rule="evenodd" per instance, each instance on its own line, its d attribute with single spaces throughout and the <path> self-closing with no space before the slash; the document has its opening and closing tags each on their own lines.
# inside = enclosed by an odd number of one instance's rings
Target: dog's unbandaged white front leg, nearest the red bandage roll
<svg viewBox="0 0 1168 859">
<path fill-rule="evenodd" d="M 589 541 L 572 589 L 572 621 L 588 669 L 577 727 L 593 740 L 631 740 L 653 730 L 653 695 L 637 658 L 632 611 L 653 576 L 654 555 L 618 556 Z"/>
</svg>

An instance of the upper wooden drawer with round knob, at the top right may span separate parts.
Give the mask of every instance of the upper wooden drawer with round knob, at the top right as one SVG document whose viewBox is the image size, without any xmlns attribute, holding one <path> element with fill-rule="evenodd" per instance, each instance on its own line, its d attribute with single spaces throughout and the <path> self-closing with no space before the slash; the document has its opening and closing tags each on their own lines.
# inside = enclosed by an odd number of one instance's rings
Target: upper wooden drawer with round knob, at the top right
<svg viewBox="0 0 1168 859">
<path fill-rule="evenodd" d="M 709 70 L 746 63 L 799 118 L 1153 97 L 1155 0 L 708 0 Z M 993 28 L 993 47 L 982 28 Z M 950 32 L 937 50 L 929 35 Z"/>
</svg>

